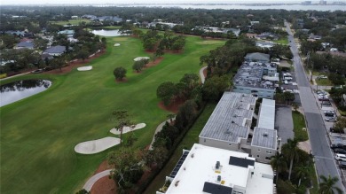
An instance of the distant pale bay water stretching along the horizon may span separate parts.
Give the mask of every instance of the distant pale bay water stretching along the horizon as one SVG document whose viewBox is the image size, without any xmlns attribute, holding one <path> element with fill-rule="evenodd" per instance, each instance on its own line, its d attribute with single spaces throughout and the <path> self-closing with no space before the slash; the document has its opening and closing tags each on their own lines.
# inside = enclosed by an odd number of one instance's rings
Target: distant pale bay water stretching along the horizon
<svg viewBox="0 0 346 194">
<path fill-rule="evenodd" d="M 177 7 L 183 9 L 223 9 L 223 10 L 288 10 L 288 11 L 330 11 L 334 12 L 337 10 L 346 11 L 346 5 L 303 5 L 303 4 L 273 4 L 273 5 L 245 5 L 245 4 L 122 4 L 115 5 L 122 7 Z"/>
</svg>

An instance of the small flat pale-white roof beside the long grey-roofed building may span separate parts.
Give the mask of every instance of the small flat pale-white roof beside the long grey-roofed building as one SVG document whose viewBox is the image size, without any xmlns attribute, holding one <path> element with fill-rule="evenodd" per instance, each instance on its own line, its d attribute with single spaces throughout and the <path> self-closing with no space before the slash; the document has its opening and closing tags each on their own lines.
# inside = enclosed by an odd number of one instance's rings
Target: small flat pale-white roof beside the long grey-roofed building
<svg viewBox="0 0 346 194">
<path fill-rule="evenodd" d="M 258 128 L 274 129 L 275 100 L 263 98 L 259 113 Z"/>
</svg>

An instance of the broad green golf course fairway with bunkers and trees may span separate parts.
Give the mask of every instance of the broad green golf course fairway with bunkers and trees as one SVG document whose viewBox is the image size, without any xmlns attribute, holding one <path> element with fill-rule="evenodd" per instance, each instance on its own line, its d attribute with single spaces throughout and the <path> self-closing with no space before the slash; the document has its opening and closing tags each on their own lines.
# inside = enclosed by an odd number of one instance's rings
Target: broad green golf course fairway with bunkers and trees
<svg viewBox="0 0 346 194">
<path fill-rule="evenodd" d="M 136 74 L 131 69 L 133 58 L 150 56 L 140 40 L 112 37 L 107 42 L 106 54 L 87 64 L 93 66 L 92 71 L 74 69 L 62 75 L 16 78 L 50 79 L 53 84 L 40 94 L 0 108 L 1 193 L 80 190 L 106 159 L 106 153 L 116 147 L 93 155 L 77 154 L 74 147 L 83 141 L 114 136 L 109 132 L 114 110 L 128 110 L 135 123 L 146 123 L 145 128 L 134 132 L 138 137 L 135 148 L 150 144 L 155 128 L 168 114 L 157 105 L 159 84 L 177 82 L 186 73 L 198 74 L 201 55 L 224 44 L 209 40 L 203 44 L 201 37 L 187 37 L 184 52 L 165 54 L 160 65 Z M 122 46 L 114 47 L 114 43 Z M 114 81 L 116 66 L 128 69 L 128 81 Z M 198 133 L 193 134 L 194 139 Z"/>
</svg>

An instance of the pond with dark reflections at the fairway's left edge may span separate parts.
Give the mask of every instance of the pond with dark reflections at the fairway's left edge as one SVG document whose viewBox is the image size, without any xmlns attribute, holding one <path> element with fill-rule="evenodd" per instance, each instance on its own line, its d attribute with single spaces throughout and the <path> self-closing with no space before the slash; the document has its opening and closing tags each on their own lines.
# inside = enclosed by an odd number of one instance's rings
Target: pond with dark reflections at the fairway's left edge
<svg viewBox="0 0 346 194">
<path fill-rule="evenodd" d="M 47 80 L 23 80 L 4 84 L 0 86 L 0 107 L 33 96 L 50 86 L 51 81 Z"/>
</svg>

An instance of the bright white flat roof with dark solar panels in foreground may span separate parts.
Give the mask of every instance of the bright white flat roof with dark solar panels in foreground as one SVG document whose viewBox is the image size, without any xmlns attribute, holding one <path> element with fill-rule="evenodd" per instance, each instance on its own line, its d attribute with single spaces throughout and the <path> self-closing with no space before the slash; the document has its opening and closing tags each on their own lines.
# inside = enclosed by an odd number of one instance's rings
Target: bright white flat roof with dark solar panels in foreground
<svg viewBox="0 0 346 194">
<path fill-rule="evenodd" d="M 231 157 L 238 161 L 230 165 Z M 254 167 L 241 167 L 244 165 L 241 160 Z M 218 170 L 216 161 L 220 162 Z M 254 172 L 254 175 L 251 175 L 251 172 Z M 221 176 L 221 182 L 217 181 L 218 175 Z M 205 182 L 233 190 L 245 188 L 247 194 L 271 194 L 273 171 L 270 165 L 257 163 L 254 158 L 248 157 L 248 153 L 194 144 L 166 193 L 206 193 L 203 191 Z"/>
</svg>

